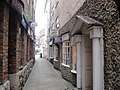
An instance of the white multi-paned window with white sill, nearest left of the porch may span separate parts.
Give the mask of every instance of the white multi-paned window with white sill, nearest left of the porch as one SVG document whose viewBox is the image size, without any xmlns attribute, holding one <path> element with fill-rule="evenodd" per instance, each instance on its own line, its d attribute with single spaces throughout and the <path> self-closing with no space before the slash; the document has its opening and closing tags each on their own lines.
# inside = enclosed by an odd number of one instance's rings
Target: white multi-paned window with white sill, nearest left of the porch
<svg viewBox="0 0 120 90">
<path fill-rule="evenodd" d="M 70 42 L 65 41 L 63 42 L 63 64 L 69 65 L 70 64 Z"/>
</svg>

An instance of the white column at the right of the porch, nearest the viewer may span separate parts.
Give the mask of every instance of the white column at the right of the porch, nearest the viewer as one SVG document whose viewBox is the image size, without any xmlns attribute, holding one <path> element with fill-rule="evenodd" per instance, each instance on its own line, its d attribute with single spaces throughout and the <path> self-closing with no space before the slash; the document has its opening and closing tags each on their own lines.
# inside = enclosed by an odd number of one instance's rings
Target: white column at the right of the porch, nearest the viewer
<svg viewBox="0 0 120 90">
<path fill-rule="evenodd" d="M 93 90 L 104 90 L 103 30 L 93 26 L 90 30 L 93 45 Z"/>
</svg>

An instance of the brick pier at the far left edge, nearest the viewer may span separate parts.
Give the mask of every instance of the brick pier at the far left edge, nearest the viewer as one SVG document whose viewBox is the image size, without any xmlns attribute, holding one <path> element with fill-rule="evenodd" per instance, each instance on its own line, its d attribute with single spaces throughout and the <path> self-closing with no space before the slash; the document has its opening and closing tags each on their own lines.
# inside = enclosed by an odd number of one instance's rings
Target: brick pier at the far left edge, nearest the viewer
<svg viewBox="0 0 120 90">
<path fill-rule="evenodd" d="M 8 21 L 9 9 L 0 1 L 0 84 L 8 79 Z"/>
</svg>

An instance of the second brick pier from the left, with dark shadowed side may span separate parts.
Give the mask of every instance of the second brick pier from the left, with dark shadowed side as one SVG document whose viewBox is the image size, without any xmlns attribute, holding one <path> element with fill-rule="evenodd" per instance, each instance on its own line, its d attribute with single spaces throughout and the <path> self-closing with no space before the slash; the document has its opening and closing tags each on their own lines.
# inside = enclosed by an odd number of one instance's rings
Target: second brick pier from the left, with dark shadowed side
<svg viewBox="0 0 120 90">
<path fill-rule="evenodd" d="M 9 49 L 8 49 L 8 63 L 9 74 L 14 74 L 19 70 L 19 22 L 16 17 L 10 12 L 9 19 Z"/>
</svg>

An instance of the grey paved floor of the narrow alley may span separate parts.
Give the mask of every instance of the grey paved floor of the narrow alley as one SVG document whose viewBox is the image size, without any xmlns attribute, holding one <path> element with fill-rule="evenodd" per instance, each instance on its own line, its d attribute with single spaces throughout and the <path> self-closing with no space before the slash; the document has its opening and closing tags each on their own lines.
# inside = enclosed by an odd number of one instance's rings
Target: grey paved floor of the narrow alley
<svg viewBox="0 0 120 90">
<path fill-rule="evenodd" d="M 74 90 L 73 88 L 48 60 L 36 56 L 36 63 L 23 90 Z"/>
</svg>

